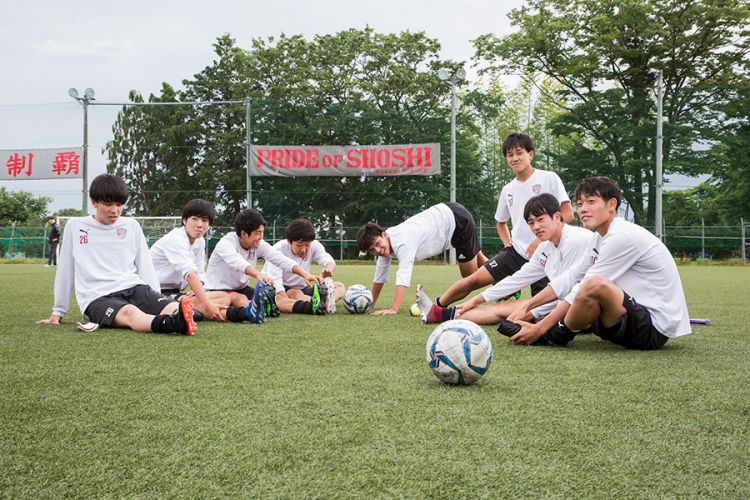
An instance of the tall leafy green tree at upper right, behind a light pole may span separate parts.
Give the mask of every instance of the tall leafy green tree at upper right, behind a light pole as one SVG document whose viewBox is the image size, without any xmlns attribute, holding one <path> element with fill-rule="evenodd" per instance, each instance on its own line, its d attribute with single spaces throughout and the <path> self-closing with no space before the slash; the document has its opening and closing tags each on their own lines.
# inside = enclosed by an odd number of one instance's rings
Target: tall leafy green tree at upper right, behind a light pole
<svg viewBox="0 0 750 500">
<path fill-rule="evenodd" d="M 475 41 L 499 72 L 538 71 L 563 89 L 554 121 L 571 148 L 557 156 L 575 177 L 615 178 L 639 223 L 653 223 L 654 88 L 664 74 L 665 172 L 711 167 L 710 137 L 725 89 L 747 57 L 747 0 L 532 0 L 510 17 L 517 32 Z M 578 144 L 575 143 L 578 142 Z"/>
</svg>

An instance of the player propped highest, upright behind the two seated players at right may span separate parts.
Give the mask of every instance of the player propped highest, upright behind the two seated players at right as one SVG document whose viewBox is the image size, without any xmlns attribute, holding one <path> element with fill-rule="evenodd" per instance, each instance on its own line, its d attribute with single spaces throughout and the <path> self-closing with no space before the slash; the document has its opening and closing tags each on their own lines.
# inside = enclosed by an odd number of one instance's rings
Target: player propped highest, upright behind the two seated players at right
<svg viewBox="0 0 750 500">
<path fill-rule="evenodd" d="M 510 134 L 503 141 L 503 155 L 508 167 L 515 174 L 515 178 L 503 186 L 495 212 L 497 233 L 505 248 L 476 272 L 453 283 L 435 299 L 438 306 L 449 306 L 474 290 L 497 283 L 521 269 L 521 266 L 529 261 L 539 245 L 539 239 L 534 237 L 523 215 L 526 202 L 530 198 L 542 193 L 552 194 L 560 203 L 562 221 L 568 224 L 573 221 L 570 198 L 560 177 L 554 172 L 532 167 L 534 141 L 531 137 L 525 134 Z M 508 220 L 513 224 L 512 238 L 508 230 Z M 531 295 L 539 293 L 546 284 L 546 277 L 532 283 Z"/>
</svg>

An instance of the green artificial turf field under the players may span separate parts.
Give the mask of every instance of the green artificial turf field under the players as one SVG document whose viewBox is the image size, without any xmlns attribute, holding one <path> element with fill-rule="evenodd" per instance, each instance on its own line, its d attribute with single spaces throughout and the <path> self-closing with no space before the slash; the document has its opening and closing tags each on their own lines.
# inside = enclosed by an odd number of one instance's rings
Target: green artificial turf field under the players
<svg viewBox="0 0 750 500">
<path fill-rule="evenodd" d="M 82 333 L 75 304 L 34 324 L 54 270 L 0 266 L 0 497 L 747 498 L 750 267 L 680 272 L 691 317 L 712 320 L 694 335 L 634 352 L 485 327 L 490 371 L 452 387 L 427 368 L 411 290 L 391 317 Z M 417 266 L 413 284 L 457 277 Z"/>
</svg>

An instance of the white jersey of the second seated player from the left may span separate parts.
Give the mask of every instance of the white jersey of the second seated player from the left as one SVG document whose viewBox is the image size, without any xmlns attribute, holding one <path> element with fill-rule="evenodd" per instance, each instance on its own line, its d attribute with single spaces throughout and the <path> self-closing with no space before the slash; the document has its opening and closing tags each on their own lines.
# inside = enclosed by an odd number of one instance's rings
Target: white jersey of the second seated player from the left
<svg viewBox="0 0 750 500">
<path fill-rule="evenodd" d="M 206 280 L 206 241 L 201 237 L 191 244 L 184 226 L 172 229 L 151 246 L 151 260 L 162 289 L 183 290 L 189 273 Z"/>
</svg>

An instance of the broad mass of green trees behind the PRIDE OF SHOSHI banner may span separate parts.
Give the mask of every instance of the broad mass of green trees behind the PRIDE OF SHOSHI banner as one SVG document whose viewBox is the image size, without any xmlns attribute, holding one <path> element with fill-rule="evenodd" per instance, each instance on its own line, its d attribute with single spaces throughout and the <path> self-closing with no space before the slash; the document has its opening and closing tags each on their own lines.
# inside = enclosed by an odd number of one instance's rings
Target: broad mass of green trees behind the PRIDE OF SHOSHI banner
<svg viewBox="0 0 750 500">
<path fill-rule="evenodd" d="M 448 200 L 449 92 L 436 74 L 456 66 L 439 59 L 439 48 L 424 33 L 379 34 L 370 28 L 312 40 L 253 39 L 248 50 L 225 35 L 214 44 L 214 62 L 183 81 L 183 91 L 163 90 L 150 101 L 248 99 L 254 144 L 440 142 L 444 173 L 434 178 L 253 178 L 254 204 L 269 222 L 304 216 L 320 227 L 370 219 L 391 224 Z M 190 109 L 184 116 L 161 117 L 124 109 L 107 146 L 110 168 L 137 192 L 133 206 L 139 212 L 168 213 L 155 200 L 184 204 L 167 201 L 165 188 L 200 187 L 231 219 L 245 205 L 246 107 Z M 495 193 L 486 199 L 478 194 L 483 171 L 477 143 L 466 130 L 470 119 L 462 113 L 458 122 L 458 201 L 493 205 Z M 185 153 L 168 160 L 174 151 Z M 341 215 L 345 221 L 335 219 Z"/>
</svg>

